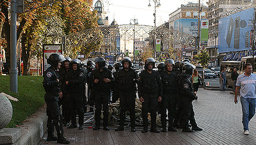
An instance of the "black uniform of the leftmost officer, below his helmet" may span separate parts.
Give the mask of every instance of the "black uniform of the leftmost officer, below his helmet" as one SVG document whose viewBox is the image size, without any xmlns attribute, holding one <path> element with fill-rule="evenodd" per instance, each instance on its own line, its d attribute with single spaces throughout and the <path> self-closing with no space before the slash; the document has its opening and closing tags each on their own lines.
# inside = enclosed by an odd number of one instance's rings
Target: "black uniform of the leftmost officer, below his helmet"
<svg viewBox="0 0 256 145">
<path fill-rule="evenodd" d="M 45 89 L 45 102 L 47 105 L 46 115 L 48 116 L 47 128 L 48 137 L 54 134 L 54 126 L 58 137 L 63 137 L 63 116 L 58 105 L 61 82 L 60 75 L 54 67 L 49 67 L 43 74 L 43 88 Z"/>
</svg>

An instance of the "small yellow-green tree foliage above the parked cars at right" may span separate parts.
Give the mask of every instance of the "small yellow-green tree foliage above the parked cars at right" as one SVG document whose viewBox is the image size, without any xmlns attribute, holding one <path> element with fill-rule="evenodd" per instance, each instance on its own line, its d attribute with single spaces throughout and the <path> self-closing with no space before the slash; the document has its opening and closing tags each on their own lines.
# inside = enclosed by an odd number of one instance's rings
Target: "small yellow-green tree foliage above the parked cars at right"
<svg viewBox="0 0 256 145">
<path fill-rule="evenodd" d="M 199 61 L 202 67 L 205 68 L 210 60 L 210 55 L 205 48 L 202 48 L 201 50 L 199 50 L 199 53 L 194 56 L 194 58 Z"/>
</svg>

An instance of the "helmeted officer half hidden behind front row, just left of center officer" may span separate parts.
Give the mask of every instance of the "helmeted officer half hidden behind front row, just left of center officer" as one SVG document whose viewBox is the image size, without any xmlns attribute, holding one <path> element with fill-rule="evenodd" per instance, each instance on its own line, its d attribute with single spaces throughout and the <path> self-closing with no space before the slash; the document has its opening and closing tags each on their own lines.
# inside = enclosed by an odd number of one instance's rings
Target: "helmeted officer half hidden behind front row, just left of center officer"
<svg viewBox="0 0 256 145">
<path fill-rule="evenodd" d="M 120 62 L 116 62 L 114 64 L 114 67 L 115 67 L 115 72 L 113 72 L 113 76 L 115 79 L 117 79 L 117 75 L 118 75 L 118 72 L 122 69 L 122 64 Z M 118 82 L 114 82 L 113 84 L 113 98 L 112 98 L 112 102 L 116 102 L 119 98 L 119 89 L 118 89 Z"/>
</svg>

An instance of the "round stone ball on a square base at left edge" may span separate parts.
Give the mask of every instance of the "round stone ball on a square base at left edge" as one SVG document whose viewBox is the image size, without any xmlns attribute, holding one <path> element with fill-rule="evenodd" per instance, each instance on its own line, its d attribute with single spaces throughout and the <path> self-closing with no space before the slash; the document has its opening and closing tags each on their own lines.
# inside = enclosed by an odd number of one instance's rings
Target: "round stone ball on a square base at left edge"
<svg viewBox="0 0 256 145">
<path fill-rule="evenodd" d="M 0 94 L 0 144 L 20 144 L 20 128 L 4 128 L 13 117 L 13 106 L 9 99 Z"/>
</svg>

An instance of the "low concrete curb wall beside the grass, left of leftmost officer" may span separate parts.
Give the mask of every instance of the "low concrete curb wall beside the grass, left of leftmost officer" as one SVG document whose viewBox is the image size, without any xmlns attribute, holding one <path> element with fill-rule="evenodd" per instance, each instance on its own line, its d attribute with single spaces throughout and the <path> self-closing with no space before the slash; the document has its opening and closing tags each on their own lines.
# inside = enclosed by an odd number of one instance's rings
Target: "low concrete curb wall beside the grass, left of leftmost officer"
<svg viewBox="0 0 256 145">
<path fill-rule="evenodd" d="M 46 124 L 46 105 L 44 105 L 18 127 L 21 129 L 20 144 L 38 144 L 46 133 Z"/>
</svg>

